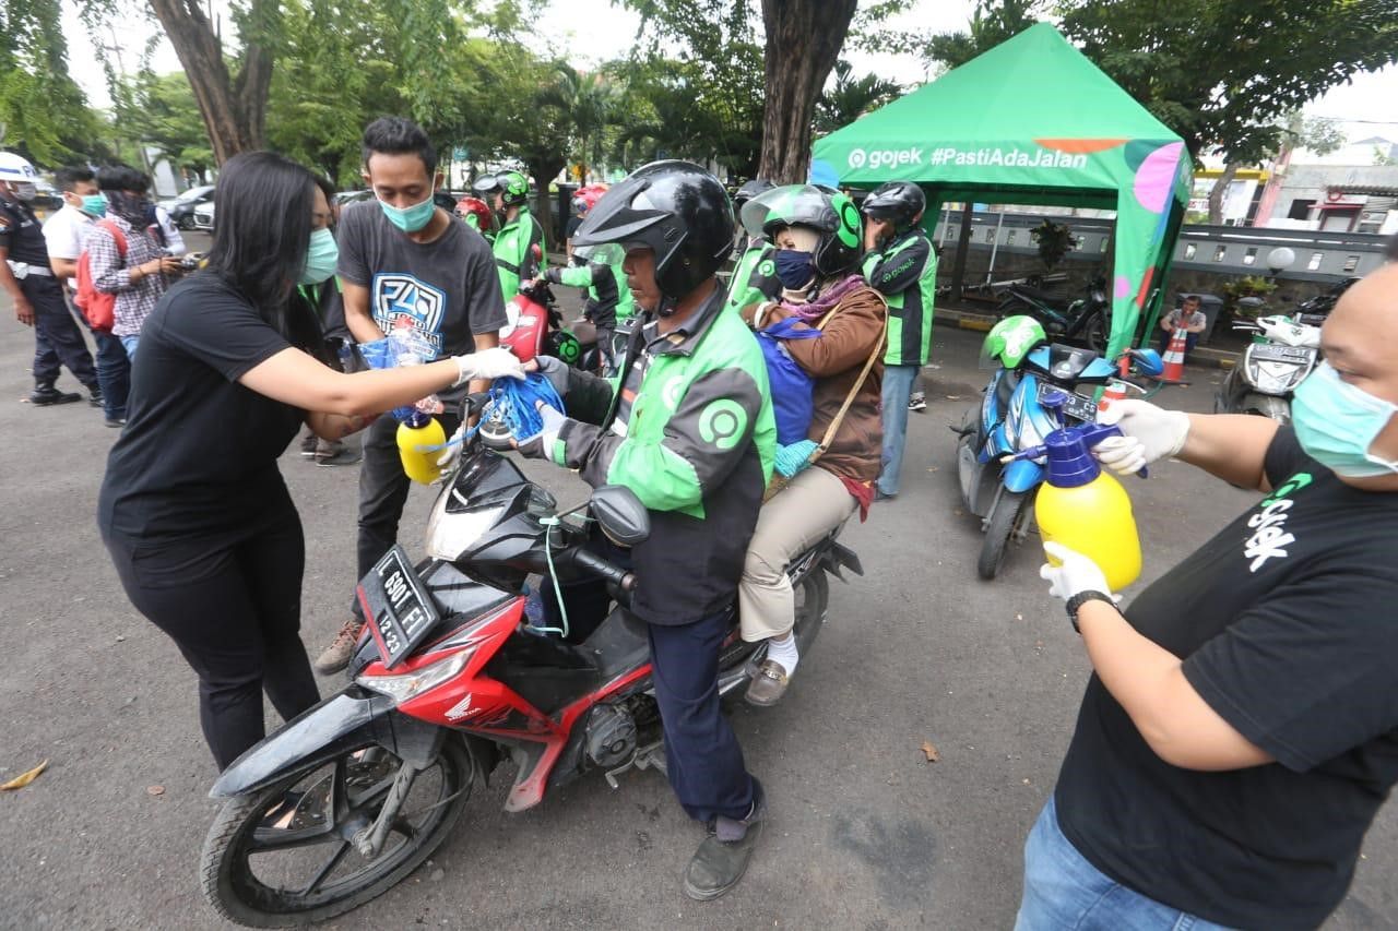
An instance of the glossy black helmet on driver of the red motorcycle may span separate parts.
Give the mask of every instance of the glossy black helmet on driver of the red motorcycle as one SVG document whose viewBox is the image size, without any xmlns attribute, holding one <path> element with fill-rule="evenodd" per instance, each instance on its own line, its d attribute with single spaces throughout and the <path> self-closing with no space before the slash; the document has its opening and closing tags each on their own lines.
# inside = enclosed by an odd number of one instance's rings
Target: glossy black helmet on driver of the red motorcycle
<svg viewBox="0 0 1398 931">
<path fill-rule="evenodd" d="M 573 233 L 575 247 L 608 242 L 653 249 L 660 294 L 678 301 L 733 252 L 728 193 L 692 162 L 643 165 L 603 194 Z"/>
</svg>

